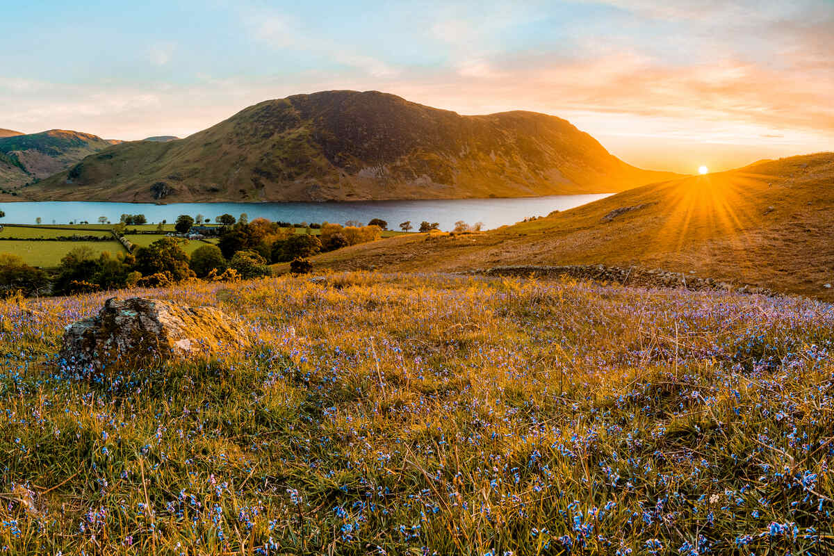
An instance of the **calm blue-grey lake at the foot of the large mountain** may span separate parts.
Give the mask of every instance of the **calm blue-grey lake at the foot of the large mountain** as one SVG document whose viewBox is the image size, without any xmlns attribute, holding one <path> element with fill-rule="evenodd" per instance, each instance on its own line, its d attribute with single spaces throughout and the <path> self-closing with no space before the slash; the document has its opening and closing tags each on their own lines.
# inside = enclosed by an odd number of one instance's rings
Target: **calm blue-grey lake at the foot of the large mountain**
<svg viewBox="0 0 834 556">
<path fill-rule="evenodd" d="M 85 203 L 41 202 L 0 203 L 6 217 L 0 223 L 33 224 L 41 218 L 43 224 L 67 224 L 86 220 L 98 222 L 101 216 L 116 223 L 122 214 L 144 214 L 148 223 L 167 220 L 173 223 L 180 214 L 214 218 L 229 213 L 238 218 L 246 213 L 249 220 L 269 220 L 289 223 L 345 223 L 358 220 L 368 223 L 371 218 L 382 218 L 388 227 L 399 228 L 399 223 L 410 220 L 414 229 L 420 222 L 440 223 L 440 229 L 451 230 L 455 222 L 484 223 L 485 229 L 514 224 L 530 216 L 546 216 L 554 210 L 567 210 L 608 197 L 597 195 L 550 195 L 547 197 L 489 198 L 489 199 L 430 199 L 425 201 L 352 201 L 349 203 Z"/>
</svg>

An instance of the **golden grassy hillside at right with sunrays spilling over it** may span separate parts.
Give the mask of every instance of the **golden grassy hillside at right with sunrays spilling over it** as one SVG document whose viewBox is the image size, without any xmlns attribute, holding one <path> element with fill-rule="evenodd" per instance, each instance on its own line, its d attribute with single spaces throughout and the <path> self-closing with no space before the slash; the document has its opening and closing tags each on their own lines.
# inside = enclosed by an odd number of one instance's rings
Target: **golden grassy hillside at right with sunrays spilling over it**
<svg viewBox="0 0 834 556">
<path fill-rule="evenodd" d="M 639 265 L 834 301 L 834 153 L 652 183 L 487 233 L 409 234 L 325 253 L 317 266 L 459 271 Z"/>
</svg>

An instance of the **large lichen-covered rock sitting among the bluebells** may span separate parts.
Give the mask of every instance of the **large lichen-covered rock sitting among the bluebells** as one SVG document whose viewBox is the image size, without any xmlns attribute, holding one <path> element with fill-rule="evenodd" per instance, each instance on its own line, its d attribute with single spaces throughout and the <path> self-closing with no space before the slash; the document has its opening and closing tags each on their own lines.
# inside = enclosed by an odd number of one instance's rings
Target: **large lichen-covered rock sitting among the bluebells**
<svg viewBox="0 0 834 556">
<path fill-rule="evenodd" d="M 114 363 L 141 365 L 247 343 L 245 333 L 218 308 L 110 298 L 97 316 L 64 330 L 59 363 L 91 373 Z"/>
</svg>

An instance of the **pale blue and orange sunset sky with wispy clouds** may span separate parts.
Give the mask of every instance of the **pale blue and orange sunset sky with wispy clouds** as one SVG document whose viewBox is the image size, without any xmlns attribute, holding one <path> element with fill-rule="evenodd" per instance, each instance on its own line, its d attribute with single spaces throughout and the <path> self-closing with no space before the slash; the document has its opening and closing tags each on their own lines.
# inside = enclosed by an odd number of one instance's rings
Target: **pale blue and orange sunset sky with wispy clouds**
<svg viewBox="0 0 834 556">
<path fill-rule="evenodd" d="M 187 136 L 379 90 L 567 118 L 644 168 L 834 150 L 834 0 L 39 0 L 3 8 L 0 128 Z"/>
</svg>

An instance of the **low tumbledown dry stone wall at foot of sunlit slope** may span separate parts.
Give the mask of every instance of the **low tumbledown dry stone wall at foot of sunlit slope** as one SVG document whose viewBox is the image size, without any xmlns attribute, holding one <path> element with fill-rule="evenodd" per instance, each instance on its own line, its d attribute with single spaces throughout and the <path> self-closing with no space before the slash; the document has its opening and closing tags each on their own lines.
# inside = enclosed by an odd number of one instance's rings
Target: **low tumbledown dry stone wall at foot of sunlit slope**
<svg viewBox="0 0 834 556">
<path fill-rule="evenodd" d="M 621 283 L 641 288 L 686 288 L 694 291 L 718 290 L 722 292 L 755 293 L 775 295 L 767 288 L 749 284 L 735 284 L 712 278 L 700 278 L 693 273 L 672 273 L 660 268 L 609 267 L 604 264 L 575 264 L 565 266 L 506 266 L 487 268 L 480 272 L 486 276 L 523 276 L 536 278 L 558 278 L 567 276 L 580 280 Z"/>
</svg>

